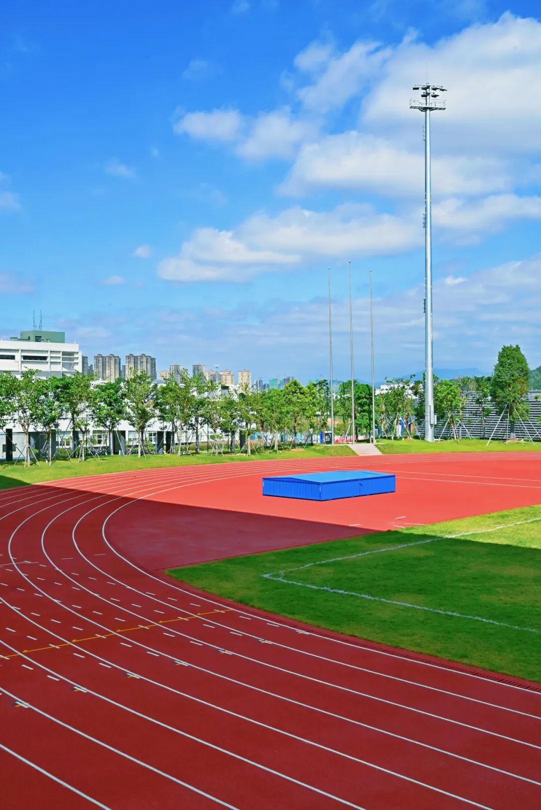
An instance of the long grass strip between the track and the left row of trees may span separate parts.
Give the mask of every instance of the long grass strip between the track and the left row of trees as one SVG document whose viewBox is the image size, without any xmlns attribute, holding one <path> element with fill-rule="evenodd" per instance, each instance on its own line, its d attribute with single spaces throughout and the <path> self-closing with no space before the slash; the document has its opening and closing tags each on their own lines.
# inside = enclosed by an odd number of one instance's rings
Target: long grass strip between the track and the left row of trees
<svg viewBox="0 0 541 810">
<path fill-rule="evenodd" d="M 206 452 L 191 455 L 148 455 L 146 458 L 129 456 L 104 456 L 103 458 L 88 458 L 84 463 L 75 459 L 71 461 L 55 461 L 50 467 L 40 462 L 39 467 L 23 467 L 22 462 L 0 463 L 0 489 L 20 487 L 24 484 L 40 484 L 42 481 L 58 480 L 62 478 L 75 478 L 77 475 L 103 475 L 107 472 L 124 472 L 127 470 L 149 470 L 153 467 L 189 467 L 194 464 L 224 464 L 229 462 L 264 461 L 269 458 L 330 458 L 334 456 L 351 456 L 353 450 L 345 445 L 330 447 L 316 445 L 313 447 L 297 448 L 296 450 L 280 450 L 277 454 L 272 450 L 258 451 L 247 456 L 243 454 L 209 455 Z"/>
</svg>

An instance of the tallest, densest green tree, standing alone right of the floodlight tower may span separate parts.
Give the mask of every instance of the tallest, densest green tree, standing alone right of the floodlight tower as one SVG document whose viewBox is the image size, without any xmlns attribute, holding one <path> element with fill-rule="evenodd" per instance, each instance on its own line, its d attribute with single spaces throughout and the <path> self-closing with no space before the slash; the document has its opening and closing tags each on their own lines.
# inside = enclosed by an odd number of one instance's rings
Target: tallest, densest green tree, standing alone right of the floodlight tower
<svg viewBox="0 0 541 810">
<path fill-rule="evenodd" d="M 492 373 L 490 393 L 496 410 L 507 411 L 513 438 L 516 422 L 530 413 L 526 401 L 529 377 L 530 369 L 520 346 L 502 347 Z"/>
</svg>

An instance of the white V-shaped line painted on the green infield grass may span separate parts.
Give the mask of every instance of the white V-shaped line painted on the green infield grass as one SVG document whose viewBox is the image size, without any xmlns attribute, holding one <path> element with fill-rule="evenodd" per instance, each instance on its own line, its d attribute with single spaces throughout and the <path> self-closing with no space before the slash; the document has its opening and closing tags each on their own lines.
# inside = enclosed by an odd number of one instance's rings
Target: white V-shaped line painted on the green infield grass
<svg viewBox="0 0 541 810">
<path fill-rule="evenodd" d="M 358 599 L 369 599 L 371 602 L 383 602 L 385 604 L 398 605 L 401 608 L 414 608 L 414 610 L 422 610 L 422 611 L 427 611 L 429 613 L 439 613 L 440 615 L 443 615 L 443 616 L 456 616 L 459 619 L 468 619 L 468 620 L 472 620 L 472 621 L 481 621 L 481 622 L 483 622 L 483 623 L 485 623 L 487 625 L 497 625 L 498 627 L 507 627 L 507 628 L 512 629 L 512 630 L 522 630 L 525 633 L 541 633 L 541 630 L 539 630 L 539 629 L 535 629 L 535 628 L 531 628 L 531 627 L 520 627 L 518 625 L 509 625 L 509 624 L 507 624 L 507 623 L 505 623 L 503 621 L 496 621 L 494 619 L 486 619 L 483 616 L 469 616 L 466 613 L 458 613 L 456 611 L 447 611 L 447 610 L 441 610 L 441 609 L 438 609 L 438 608 L 427 608 L 425 605 L 415 605 L 415 604 L 412 604 L 412 603 L 409 603 L 409 602 L 401 602 L 401 601 L 398 601 L 397 599 L 384 599 L 383 597 L 380 597 L 380 596 L 372 596 L 370 594 L 359 594 L 354 590 L 342 590 L 341 588 L 331 588 L 331 587 L 322 586 L 322 585 L 311 585 L 311 583 L 309 583 L 309 582 L 296 582 L 296 581 L 294 581 L 292 579 L 287 579 L 286 578 L 286 575 L 292 573 L 293 571 L 301 571 L 303 569 L 313 568 L 316 565 L 326 565 L 326 564 L 329 564 L 329 563 L 339 562 L 339 561 L 342 561 L 342 560 L 353 560 L 356 557 L 368 556 L 370 554 L 380 554 L 380 553 L 383 553 L 383 552 L 398 551 L 401 548 L 410 548 L 411 546 L 420 546 L 420 545 L 427 544 L 427 543 L 434 543 L 437 540 L 451 540 L 451 539 L 457 539 L 459 537 L 470 537 L 471 535 L 488 534 L 489 532 L 492 532 L 492 531 L 500 531 L 501 529 L 509 529 L 510 527 L 513 527 L 513 526 L 522 526 L 525 523 L 534 523 L 534 522 L 538 522 L 539 520 L 541 520 L 541 517 L 539 517 L 539 518 L 530 518 L 529 520 L 519 520 L 519 521 L 515 521 L 513 523 L 505 523 L 502 526 L 491 527 L 489 529 L 479 529 L 477 531 L 462 531 L 457 535 L 442 535 L 442 536 L 438 536 L 438 537 L 430 537 L 430 538 L 428 538 L 426 540 L 416 540 L 416 541 L 414 541 L 414 543 L 402 543 L 402 544 L 399 544 L 399 545 L 396 545 L 396 546 L 386 546 L 385 548 L 375 548 L 375 549 L 373 549 L 371 551 L 367 551 L 367 552 L 359 552 L 357 554 L 348 554 L 346 556 L 333 557 L 333 558 L 331 558 L 329 560 L 319 560 L 319 561 L 316 561 L 316 562 L 307 563 L 306 565 L 298 565 L 295 568 L 281 569 L 280 571 L 277 571 L 277 573 L 264 573 L 264 574 L 261 574 L 261 576 L 262 576 L 263 579 L 271 579 L 274 582 L 284 582 L 286 585 L 295 585 L 295 586 L 298 586 L 298 587 L 310 588 L 311 590 L 324 590 L 326 593 L 330 593 L 330 594 L 340 594 L 340 595 L 343 595 L 343 596 L 355 596 Z"/>
</svg>

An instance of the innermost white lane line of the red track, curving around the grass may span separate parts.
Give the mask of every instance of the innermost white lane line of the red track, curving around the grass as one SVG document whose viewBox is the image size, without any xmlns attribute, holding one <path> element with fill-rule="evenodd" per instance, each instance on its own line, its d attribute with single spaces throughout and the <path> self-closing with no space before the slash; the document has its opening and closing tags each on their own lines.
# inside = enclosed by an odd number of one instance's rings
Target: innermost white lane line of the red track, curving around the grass
<svg viewBox="0 0 541 810">
<path fill-rule="evenodd" d="M 502 454 L 502 455 L 503 455 L 504 458 L 509 460 L 508 455 L 506 455 L 506 454 Z M 538 455 L 541 456 L 541 454 L 538 454 Z M 453 458 L 452 460 L 457 461 L 458 459 Z M 305 461 L 307 461 L 307 459 L 305 459 Z M 284 460 L 284 463 L 286 463 L 286 460 Z M 273 471 L 276 471 L 277 469 L 278 469 L 277 465 L 273 467 Z M 283 467 L 280 467 L 280 469 L 283 469 Z M 287 471 L 290 471 L 290 467 L 286 467 L 286 469 L 287 469 Z M 255 475 L 258 475 L 258 473 L 255 473 Z M 239 476 L 233 476 L 233 475 L 227 476 L 227 478 L 233 478 L 233 477 L 239 477 Z M 207 483 L 207 481 L 208 480 L 204 480 L 201 483 Z M 154 494 L 158 494 L 159 492 L 162 492 L 162 491 L 166 491 L 166 490 L 159 490 L 158 492 L 155 492 Z M 137 499 L 137 500 L 139 500 L 139 499 Z M 130 505 L 130 504 L 126 504 L 126 505 Z M 126 506 L 126 505 L 124 505 L 124 506 Z M 120 508 L 123 508 L 123 507 L 120 507 Z M 118 511 L 118 509 L 116 509 L 115 511 Z M 114 514 L 114 513 L 112 513 L 112 514 Z M 109 517 L 111 517 L 111 515 L 109 515 Z M 148 571 L 144 571 L 144 569 L 140 569 L 137 565 L 135 565 L 135 563 L 128 560 L 127 557 L 124 557 L 124 556 L 122 556 L 122 554 L 117 552 L 116 549 L 114 549 L 109 544 L 109 542 L 107 541 L 107 539 L 105 537 L 105 523 L 107 522 L 107 520 L 109 520 L 109 517 L 106 518 L 106 520 L 104 522 L 102 534 L 104 536 L 105 543 L 109 546 L 110 550 L 112 552 L 114 552 L 114 554 L 116 554 L 116 556 L 120 557 L 123 561 L 125 561 L 127 563 L 127 565 L 131 565 L 132 568 L 135 568 L 135 570 L 137 570 L 140 573 L 144 574 L 145 577 L 150 577 L 150 578 L 156 580 L 157 582 L 161 582 L 162 585 L 166 585 L 166 586 L 168 586 L 170 588 L 173 588 L 174 590 L 176 590 L 177 592 L 180 592 L 182 594 L 193 596 L 193 593 L 194 593 L 193 590 L 188 590 L 187 588 L 182 588 L 181 586 L 178 586 L 178 584 L 174 584 L 173 582 L 168 582 L 165 579 L 158 578 L 158 577 L 154 576 L 152 573 L 148 573 Z M 209 604 L 219 605 L 221 608 L 230 607 L 226 603 L 221 602 L 218 599 L 211 599 L 208 596 L 201 596 L 200 594 L 198 594 L 198 596 L 199 596 L 200 599 L 204 599 L 204 601 L 209 603 Z M 232 610 L 234 612 L 237 612 L 237 613 L 239 612 L 239 608 L 232 608 Z M 260 616 L 257 613 L 251 613 L 251 617 L 254 618 L 254 619 L 258 619 L 258 620 L 265 620 L 265 618 L 266 618 L 265 616 Z M 288 624 L 286 624 L 285 621 L 281 621 L 279 624 L 280 624 L 281 628 L 283 628 L 283 629 L 289 629 L 289 630 L 294 630 L 295 629 L 294 625 L 288 625 Z M 354 650 L 362 650 L 363 652 L 370 652 L 372 654 L 383 655 L 383 656 L 385 656 L 387 658 L 398 659 L 401 662 L 417 664 L 418 666 L 421 666 L 421 667 L 429 667 L 431 669 L 436 669 L 436 670 L 442 670 L 448 675 L 453 673 L 454 675 L 462 676 L 464 678 L 473 678 L 474 680 L 483 680 L 485 683 L 492 684 L 494 687 L 500 686 L 500 687 L 503 687 L 505 689 L 514 689 L 514 690 L 517 690 L 517 691 L 526 692 L 528 694 L 537 694 L 537 695 L 539 695 L 539 693 L 531 692 L 530 689 L 526 689 L 526 687 L 519 686 L 518 684 L 507 684 L 505 682 L 495 680 L 495 679 L 489 678 L 487 676 L 479 675 L 479 674 L 474 673 L 474 672 L 457 670 L 457 669 L 453 669 L 451 667 L 445 667 L 442 664 L 433 663 L 431 661 L 423 661 L 422 659 L 410 658 L 410 657 L 408 657 L 406 655 L 401 655 L 401 654 L 398 654 L 398 653 L 391 653 L 391 652 L 389 652 L 389 650 L 380 650 L 380 649 L 377 649 L 375 647 L 363 645 L 360 641 L 359 641 L 359 643 L 346 642 L 344 639 L 333 637 L 333 636 L 326 636 L 326 635 L 323 635 L 322 633 L 316 633 L 313 630 L 306 631 L 306 634 L 311 636 L 311 637 L 317 638 L 319 641 L 324 640 L 326 642 L 331 642 L 333 644 L 337 644 L 337 645 L 341 645 L 341 646 L 347 646 L 347 647 L 353 648 Z M 293 649 L 293 648 L 288 648 L 288 649 Z M 301 652 L 301 650 L 298 650 L 298 652 Z M 340 662 L 335 661 L 334 663 L 340 663 Z"/>
</svg>

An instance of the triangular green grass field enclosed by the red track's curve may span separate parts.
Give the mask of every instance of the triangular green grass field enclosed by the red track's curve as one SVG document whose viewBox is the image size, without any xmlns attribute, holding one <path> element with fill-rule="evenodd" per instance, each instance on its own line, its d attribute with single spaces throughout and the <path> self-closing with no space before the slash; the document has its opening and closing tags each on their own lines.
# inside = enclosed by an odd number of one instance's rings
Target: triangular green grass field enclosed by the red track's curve
<svg viewBox="0 0 541 810">
<path fill-rule="evenodd" d="M 541 680 L 541 506 L 169 573 L 313 625 Z"/>
</svg>

